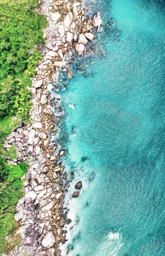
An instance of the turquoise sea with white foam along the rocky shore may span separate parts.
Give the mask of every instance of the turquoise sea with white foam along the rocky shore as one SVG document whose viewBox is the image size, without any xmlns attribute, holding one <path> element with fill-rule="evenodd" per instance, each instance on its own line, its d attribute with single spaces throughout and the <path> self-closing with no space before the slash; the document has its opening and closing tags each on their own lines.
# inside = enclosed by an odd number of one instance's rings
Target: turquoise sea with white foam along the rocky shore
<svg viewBox="0 0 165 256">
<path fill-rule="evenodd" d="M 72 220 L 62 255 L 163 256 L 165 5 L 89 4 L 103 19 L 95 53 L 75 59 L 61 92 Z"/>
</svg>

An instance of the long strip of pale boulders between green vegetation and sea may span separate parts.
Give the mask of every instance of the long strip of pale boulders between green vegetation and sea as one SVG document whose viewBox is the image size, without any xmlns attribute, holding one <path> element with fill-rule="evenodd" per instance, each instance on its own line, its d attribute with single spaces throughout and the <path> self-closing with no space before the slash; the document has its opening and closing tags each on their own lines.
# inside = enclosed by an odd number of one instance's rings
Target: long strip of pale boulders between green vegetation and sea
<svg viewBox="0 0 165 256">
<path fill-rule="evenodd" d="M 20 225 L 15 235 L 20 234 L 23 240 L 11 256 L 60 255 L 59 243 L 65 243 L 62 227 L 70 221 L 64 218 L 62 209 L 69 183 L 60 162 L 65 150 L 56 152 L 57 145 L 50 144 L 58 130 L 61 108 L 56 106 L 59 99 L 53 98 L 47 87 L 52 83 L 56 86 L 55 73 L 59 74 L 61 69 L 66 70 L 68 78 L 72 77 L 66 56 L 72 59 L 74 52 L 83 56 L 85 45 L 94 39 L 93 27 L 99 31 L 101 25 L 99 13 L 92 19 L 85 17 L 81 1 L 42 0 L 39 3 L 40 9 L 36 11 L 47 16 L 48 27 L 44 31 L 45 47 L 41 50 L 43 59 L 29 88 L 33 103 L 31 124 L 12 132 L 4 145 L 6 150 L 16 145 L 17 158 L 8 159 L 9 163 L 16 165 L 22 160 L 29 164 L 25 196 L 19 200 L 15 214 L 15 221 Z M 54 116 L 51 107 L 57 108 L 58 116 Z M 80 189 L 81 184 L 75 188 Z M 72 196 L 78 195 L 76 191 Z"/>
</svg>

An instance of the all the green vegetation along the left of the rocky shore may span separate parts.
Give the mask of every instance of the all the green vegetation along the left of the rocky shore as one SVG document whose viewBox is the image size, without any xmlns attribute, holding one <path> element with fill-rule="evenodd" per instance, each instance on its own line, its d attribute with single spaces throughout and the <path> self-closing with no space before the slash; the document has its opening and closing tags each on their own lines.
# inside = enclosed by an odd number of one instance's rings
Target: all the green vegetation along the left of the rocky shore
<svg viewBox="0 0 165 256">
<path fill-rule="evenodd" d="M 20 122 L 29 122 L 27 86 L 42 58 L 37 45 L 44 43 L 42 30 L 46 27 L 45 17 L 34 11 L 37 7 L 38 0 L 0 0 L 0 254 L 20 242 L 19 236 L 11 236 L 9 242 L 4 237 L 16 230 L 14 213 L 23 195 L 20 178 L 28 165 L 7 164 L 5 155 L 16 158 L 15 145 L 6 152 L 3 141 Z"/>
</svg>

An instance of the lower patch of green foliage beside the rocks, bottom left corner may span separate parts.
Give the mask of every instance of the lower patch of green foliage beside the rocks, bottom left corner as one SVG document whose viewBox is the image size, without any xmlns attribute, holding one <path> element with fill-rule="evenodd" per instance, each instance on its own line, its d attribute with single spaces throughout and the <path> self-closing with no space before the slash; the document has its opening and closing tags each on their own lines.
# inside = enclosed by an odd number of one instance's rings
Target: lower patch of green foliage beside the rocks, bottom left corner
<svg viewBox="0 0 165 256">
<path fill-rule="evenodd" d="M 28 165 L 20 163 L 17 166 L 6 164 L 8 175 L 5 182 L 0 183 L 0 254 L 7 251 L 5 236 L 9 236 L 16 229 L 14 213 L 16 204 L 23 196 L 23 180 L 20 177 L 26 174 Z M 18 241 L 15 241 L 17 243 Z M 11 249 L 12 241 L 9 248 Z"/>
</svg>

